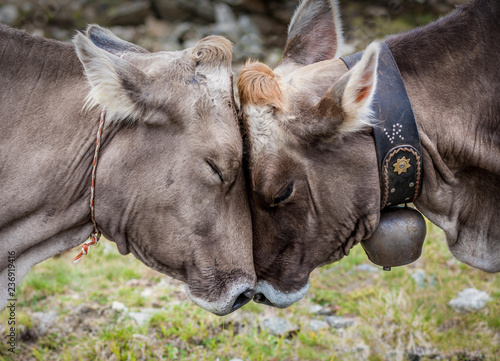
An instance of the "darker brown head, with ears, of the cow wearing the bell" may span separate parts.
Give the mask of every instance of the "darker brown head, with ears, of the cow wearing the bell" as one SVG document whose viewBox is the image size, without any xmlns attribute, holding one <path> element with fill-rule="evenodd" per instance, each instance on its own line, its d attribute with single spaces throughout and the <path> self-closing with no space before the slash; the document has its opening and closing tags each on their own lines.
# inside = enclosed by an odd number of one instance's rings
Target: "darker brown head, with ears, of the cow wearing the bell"
<svg viewBox="0 0 500 361">
<path fill-rule="evenodd" d="M 371 135 L 378 45 L 348 71 L 335 1 L 305 0 L 276 69 L 238 79 L 253 220 L 255 300 L 287 307 L 316 267 L 339 260 L 379 220 Z"/>
</svg>

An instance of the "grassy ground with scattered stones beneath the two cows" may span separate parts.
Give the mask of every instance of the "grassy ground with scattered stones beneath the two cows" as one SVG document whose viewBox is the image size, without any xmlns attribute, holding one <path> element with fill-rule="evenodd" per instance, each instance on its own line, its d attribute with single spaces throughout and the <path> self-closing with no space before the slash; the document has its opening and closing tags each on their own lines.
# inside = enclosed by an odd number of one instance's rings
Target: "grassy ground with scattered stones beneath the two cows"
<svg viewBox="0 0 500 361">
<path fill-rule="evenodd" d="M 74 250 L 28 274 L 18 293 L 16 354 L 2 342 L 0 360 L 500 360 L 500 275 L 454 260 L 432 225 L 423 256 L 410 266 L 358 271 L 369 262 L 356 246 L 341 262 L 316 270 L 309 294 L 288 309 L 251 303 L 226 317 L 196 307 L 181 283 L 105 243 L 76 266 Z M 426 273 L 423 286 L 411 277 L 416 269 Z M 475 313 L 454 312 L 447 303 L 468 287 L 493 300 Z M 139 325 L 113 301 L 156 312 Z M 355 323 L 313 332 L 310 321 L 324 317 L 309 312 L 313 304 Z M 49 311 L 56 322 L 42 327 L 38 315 Z M 273 336 L 262 327 L 268 316 L 300 330 Z M 7 318 L 0 313 L 3 326 Z"/>
</svg>

